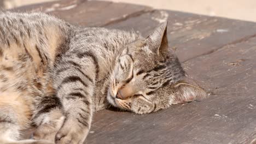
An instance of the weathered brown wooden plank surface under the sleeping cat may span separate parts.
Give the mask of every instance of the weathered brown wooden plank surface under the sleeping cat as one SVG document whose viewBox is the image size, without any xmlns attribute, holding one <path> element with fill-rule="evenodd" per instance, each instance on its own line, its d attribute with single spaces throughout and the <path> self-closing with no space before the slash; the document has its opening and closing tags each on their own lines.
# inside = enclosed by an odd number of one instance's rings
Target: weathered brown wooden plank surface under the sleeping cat
<svg viewBox="0 0 256 144">
<path fill-rule="evenodd" d="M 149 115 L 97 112 L 85 143 L 249 143 L 256 138 L 256 23 L 99 1 L 60 1 L 43 11 L 74 25 L 149 34 L 168 20 L 170 47 L 211 93 L 200 102 Z"/>
</svg>

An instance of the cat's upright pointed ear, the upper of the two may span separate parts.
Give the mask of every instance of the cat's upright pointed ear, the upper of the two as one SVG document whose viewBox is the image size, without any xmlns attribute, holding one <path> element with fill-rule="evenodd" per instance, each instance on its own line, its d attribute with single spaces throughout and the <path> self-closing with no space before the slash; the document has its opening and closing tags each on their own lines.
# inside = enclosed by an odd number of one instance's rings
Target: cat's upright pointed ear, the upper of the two
<svg viewBox="0 0 256 144">
<path fill-rule="evenodd" d="M 162 23 L 146 38 L 146 42 L 149 44 L 150 49 L 158 53 L 158 55 L 168 50 L 167 23 L 167 21 Z"/>
</svg>

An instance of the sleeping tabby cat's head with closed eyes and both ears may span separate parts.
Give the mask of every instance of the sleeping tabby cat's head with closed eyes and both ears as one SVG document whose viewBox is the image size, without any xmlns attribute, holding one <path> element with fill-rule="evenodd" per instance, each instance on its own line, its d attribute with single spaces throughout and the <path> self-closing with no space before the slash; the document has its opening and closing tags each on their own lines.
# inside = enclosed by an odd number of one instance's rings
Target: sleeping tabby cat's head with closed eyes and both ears
<svg viewBox="0 0 256 144">
<path fill-rule="evenodd" d="M 107 99 L 116 107 L 142 114 L 206 96 L 185 79 L 181 63 L 168 48 L 165 22 L 146 39 L 125 47 L 114 67 Z"/>
</svg>

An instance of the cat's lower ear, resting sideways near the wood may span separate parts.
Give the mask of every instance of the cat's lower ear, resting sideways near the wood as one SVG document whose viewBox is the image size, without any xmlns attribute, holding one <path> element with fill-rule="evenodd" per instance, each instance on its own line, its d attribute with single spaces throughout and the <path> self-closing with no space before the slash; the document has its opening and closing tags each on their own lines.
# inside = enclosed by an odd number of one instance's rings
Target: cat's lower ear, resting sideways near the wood
<svg viewBox="0 0 256 144">
<path fill-rule="evenodd" d="M 186 103 L 195 99 L 203 99 L 207 96 L 205 90 L 187 81 L 176 83 L 174 89 L 174 103 Z"/>
</svg>

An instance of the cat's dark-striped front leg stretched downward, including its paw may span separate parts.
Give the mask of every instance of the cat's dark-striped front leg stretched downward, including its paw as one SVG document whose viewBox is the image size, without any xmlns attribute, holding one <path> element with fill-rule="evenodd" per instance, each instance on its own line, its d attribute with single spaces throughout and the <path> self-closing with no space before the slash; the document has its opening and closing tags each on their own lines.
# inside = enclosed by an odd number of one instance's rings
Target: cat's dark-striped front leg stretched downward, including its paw
<svg viewBox="0 0 256 144">
<path fill-rule="evenodd" d="M 83 54 L 64 58 L 61 65 L 57 65 L 54 83 L 66 118 L 55 136 L 55 143 L 83 143 L 88 135 L 97 71 L 94 60 Z"/>
</svg>

